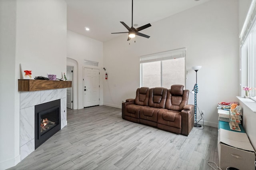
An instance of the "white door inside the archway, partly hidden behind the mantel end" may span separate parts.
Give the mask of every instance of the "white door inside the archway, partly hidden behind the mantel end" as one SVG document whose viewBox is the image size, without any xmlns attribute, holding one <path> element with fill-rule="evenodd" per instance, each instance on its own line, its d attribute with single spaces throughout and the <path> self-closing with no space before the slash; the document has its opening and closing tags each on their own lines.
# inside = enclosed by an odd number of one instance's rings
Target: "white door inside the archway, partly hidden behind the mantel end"
<svg viewBox="0 0 256 170">
<path fill-rule="evenodd" d="M 74 67 L 72 66 L 67 66 L 67 73 L 66 73 L 66 77 L 68 79 L 68 81 L 73 81 L 73 70 Z M 72 82 L 73 84 L 73 82 Z M 67 108 L 69 109 L 73 109 L 73 85 L 72 87 L 67 88 Z"/>
</svg>

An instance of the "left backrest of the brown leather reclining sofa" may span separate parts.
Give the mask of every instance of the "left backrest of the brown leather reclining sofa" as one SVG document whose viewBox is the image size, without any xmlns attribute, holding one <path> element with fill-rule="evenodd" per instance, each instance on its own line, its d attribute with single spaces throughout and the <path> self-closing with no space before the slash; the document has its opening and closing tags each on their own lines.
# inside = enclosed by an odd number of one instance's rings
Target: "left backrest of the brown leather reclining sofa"
<svg viewBox="0 0 256 170">
<path fill-rule="evenodd" d="M 148 106 L 149 88 L 140 87 L 136 91 L 136 98 L 134 104 L 141 106 Z"/>
</svg>

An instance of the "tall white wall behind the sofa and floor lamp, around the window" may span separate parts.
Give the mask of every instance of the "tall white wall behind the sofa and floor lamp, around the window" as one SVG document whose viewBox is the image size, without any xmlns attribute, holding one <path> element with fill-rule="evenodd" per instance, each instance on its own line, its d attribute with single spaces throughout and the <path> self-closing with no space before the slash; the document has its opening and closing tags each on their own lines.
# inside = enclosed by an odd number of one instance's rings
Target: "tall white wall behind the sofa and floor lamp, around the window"
<svg viewBox="0 0 256 170">
<path fill-rule="evenodd" d="M 217 127 L 217 104 L 236 101 L 239 93 L 238 0 L 214 0 L 170 16 L 141 31 L 151 36 L 127 35 L 104 42 L 104 105 L 121 107 L 124 99 L 134 98 L 140 87 L 139 56 L 186 47 L 188 70 L 186 89 L 194 87 L 198 71 L 198 107 L 205 111 L 204 124 Z M 118 94 L 118 95 L 116 95 Z M 190 95 L 189 103 L 194 104 Z M 200 116 L 198 117 L 198 119 Z"/>
</svg>

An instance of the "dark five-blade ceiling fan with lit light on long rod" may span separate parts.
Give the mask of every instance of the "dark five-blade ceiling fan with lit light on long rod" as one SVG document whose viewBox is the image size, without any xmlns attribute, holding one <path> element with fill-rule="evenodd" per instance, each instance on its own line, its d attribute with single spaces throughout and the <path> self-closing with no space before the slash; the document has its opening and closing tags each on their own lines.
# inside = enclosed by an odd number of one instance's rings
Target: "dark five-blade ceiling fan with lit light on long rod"
<svg viewBox="0 0 256 170">
<path fill-rule="evenodd" d="M 146 34 L 142 34 L 139 31 L 144 30 L 148 27 L 151 27 L 151 24 L 146 24 L 144 26 L 141 26 L 139 28 L 134 28 L 133 27 L 133 0 L 132 0 L 132 27 L 130 28 L 129 26 L 127 26 L 124 22 L 120 21 L 121 24 L 123 24 L 125 26 L 125 28 L 128 30 L 128 32 L 114 32 L 111 34 L 122 34 L 122 33 L 128 33 L 128 39 L 127 41 L 129 41 L 131 38 L 134 38 L 136 35 L 137 36 L 142 36 L 145 38 L 150 38 L 150 36 L 146 35 Z"/>
</svg>

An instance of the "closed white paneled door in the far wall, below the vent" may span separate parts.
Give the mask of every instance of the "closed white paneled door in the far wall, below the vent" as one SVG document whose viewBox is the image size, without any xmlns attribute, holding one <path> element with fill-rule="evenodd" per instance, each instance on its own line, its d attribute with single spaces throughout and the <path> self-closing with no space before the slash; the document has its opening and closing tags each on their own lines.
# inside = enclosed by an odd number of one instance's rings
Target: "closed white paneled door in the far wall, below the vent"
<svg viewBox="0 0 256 170">
<path fill-rule="evenodd" d="M 84 107 L 100 105 L 100 70 L 84 68 Z"/>
</svg>

